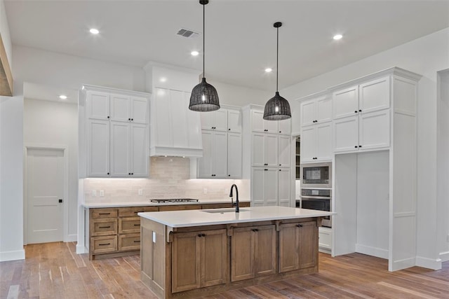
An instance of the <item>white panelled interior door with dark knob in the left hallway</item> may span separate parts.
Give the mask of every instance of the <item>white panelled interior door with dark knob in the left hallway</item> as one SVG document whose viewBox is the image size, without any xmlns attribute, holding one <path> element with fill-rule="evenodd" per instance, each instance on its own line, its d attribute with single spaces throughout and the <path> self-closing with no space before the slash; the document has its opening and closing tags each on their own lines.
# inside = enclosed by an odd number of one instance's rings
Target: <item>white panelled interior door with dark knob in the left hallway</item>
<svg viewBox="0 0 449 299">
<path fill-rule="evenodd" d="M 27 244 L 62 241 L 64 151 L 27 151 Z"/>
</svg>

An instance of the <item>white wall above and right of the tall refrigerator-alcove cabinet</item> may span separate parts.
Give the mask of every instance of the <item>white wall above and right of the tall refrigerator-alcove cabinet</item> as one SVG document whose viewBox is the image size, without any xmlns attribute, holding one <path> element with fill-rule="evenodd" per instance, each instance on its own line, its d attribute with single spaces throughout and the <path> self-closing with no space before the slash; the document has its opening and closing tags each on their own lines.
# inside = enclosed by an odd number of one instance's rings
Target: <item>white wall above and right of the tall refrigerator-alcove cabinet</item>
<svg viewBox="0 0 449 299">
<path fill-rule="evenodd" d="M 446 28 L 281 90 L 283 97 L 297 99 L 389 67 L 422 74 L 417 104 L 417 256 L 431 260 L 438 259 L 436 228 L 443 223 L 436 215 L 436 72 L 449 67 L 448 53 Z"/>
</svg>

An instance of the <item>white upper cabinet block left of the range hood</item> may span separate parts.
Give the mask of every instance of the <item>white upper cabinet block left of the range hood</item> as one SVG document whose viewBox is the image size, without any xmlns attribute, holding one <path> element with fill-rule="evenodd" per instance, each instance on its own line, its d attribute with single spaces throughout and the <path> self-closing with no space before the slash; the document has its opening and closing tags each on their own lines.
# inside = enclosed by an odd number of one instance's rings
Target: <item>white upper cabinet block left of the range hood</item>
<svg viewBox="0 0 449 299">
<path fill-rule="evenodd" d="M 148 176 L 149 94 L 84 85 L 79 93 L 79 177 Z"/>
</svg>

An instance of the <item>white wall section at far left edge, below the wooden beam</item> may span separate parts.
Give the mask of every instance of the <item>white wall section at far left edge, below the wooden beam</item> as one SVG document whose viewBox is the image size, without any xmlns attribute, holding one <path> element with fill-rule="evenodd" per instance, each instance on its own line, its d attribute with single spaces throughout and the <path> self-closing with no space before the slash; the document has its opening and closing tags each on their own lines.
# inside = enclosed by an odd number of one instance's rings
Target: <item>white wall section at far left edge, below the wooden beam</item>
<svg viewBox="0 0 449 299">
<path fill-rule="evenodd" d="M 0 97 L 0 261 L 23 250 L 23 98 Z"/>
</svg>

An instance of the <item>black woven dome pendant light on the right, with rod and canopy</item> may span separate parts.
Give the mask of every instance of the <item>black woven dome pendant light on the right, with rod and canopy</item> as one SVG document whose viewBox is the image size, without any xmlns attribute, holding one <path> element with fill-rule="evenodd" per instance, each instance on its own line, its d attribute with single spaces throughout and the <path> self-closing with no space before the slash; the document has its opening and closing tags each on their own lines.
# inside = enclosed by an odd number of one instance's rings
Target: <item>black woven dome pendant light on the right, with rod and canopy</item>
<svg viewBox="0 0 449 299">
<path fill-rule="evenodd" d="M 274 28 L 277 30 L 277 48 L 276 48 L 276 94 L 268 100 L 264 109 L 264 120 L 286 120 L 292 117 L 290 112 L 290 104 L 288 101 L 279 95 L 278 90 L 278 76 L 279 76 L 279 27 L 281 22 L 274 23 Z"/>
</svg>

